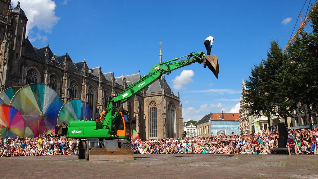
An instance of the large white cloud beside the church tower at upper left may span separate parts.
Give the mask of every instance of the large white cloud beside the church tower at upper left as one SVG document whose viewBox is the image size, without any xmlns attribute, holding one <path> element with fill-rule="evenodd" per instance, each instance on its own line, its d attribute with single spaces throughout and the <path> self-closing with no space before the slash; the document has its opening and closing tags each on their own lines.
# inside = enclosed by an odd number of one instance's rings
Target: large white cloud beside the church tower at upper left
<svg viewBox="0 0 318 179">
<path fill-rule="evenodd" d="M 11 0 L 12 7 L 17 6 L 18 0 Z M 30 38 L 39 39 L 38 36 L 43 35 L 34 34 L 32 29 L 36 27 L 39 32 L 52 33 L 52 28 L 58 23 L 60 17 L 55 15 L 56 4 L 52 0 L 24 0 L 20 2 L 20 7 L 24 10 L 28 22 L 26 26 L 26 35 Z M 33 36 L 36 36 L 34 38 Z M 40 38 L 42 41 L 44 38 Z M 47 38 L 46 38 L 47 40 Z"/>
</svg>

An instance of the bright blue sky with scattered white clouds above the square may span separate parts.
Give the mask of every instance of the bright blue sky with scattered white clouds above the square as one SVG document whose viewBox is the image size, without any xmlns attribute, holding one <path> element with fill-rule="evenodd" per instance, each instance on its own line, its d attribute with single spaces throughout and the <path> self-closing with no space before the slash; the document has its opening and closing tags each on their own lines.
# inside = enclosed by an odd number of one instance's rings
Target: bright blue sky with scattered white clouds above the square
<svg viewBox="0 0 318 179">
<path fill-rule="evenodd" d="M 100 65 L 115 76 L 147 74 L 159 63 L 160 41 L 167 61 L 205 52 L 204 39 L 213 36 L 218 79 L 202 64 L 165 75 L 175 95 L 180 92 L 187 121 L 210 112 L 238 112 L 242 79 L 266 59 L 271 39 L 287 45 L 304 2 L 20 0 L 20 7 L 29 19 L 32 45 L 50 43 L 53 53 L 68 51 L 73 61 L 85 58 L 89 67 Z"/>
</svg>

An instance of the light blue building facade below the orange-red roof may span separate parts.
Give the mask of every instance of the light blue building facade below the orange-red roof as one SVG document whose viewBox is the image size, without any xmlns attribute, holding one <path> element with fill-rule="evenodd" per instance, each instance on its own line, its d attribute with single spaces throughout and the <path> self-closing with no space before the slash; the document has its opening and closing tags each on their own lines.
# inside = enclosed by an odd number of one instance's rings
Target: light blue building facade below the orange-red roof
<svg viewBox="0 0 318 179">
<path fill-rule="evenodd" d="M 214 136 L 240 134 L 239 120 L 210 120 L 210 129 Z"/>
</svg>

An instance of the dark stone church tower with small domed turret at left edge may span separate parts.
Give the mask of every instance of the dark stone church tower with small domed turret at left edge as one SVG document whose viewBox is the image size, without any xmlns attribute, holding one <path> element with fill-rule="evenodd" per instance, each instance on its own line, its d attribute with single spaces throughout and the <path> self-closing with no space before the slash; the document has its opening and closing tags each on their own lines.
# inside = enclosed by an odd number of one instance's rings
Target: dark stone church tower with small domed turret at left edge
<svg viewBox="0 0 318 179">
<path fill-rule="evenodd" d="M 24 65 L 23 44 L 28 18 L 20 8 L 20 2 L 11 10 L 8 6 L 5 35 L 0 50 L 0 88 L 22 85 Z"/>
</svg>

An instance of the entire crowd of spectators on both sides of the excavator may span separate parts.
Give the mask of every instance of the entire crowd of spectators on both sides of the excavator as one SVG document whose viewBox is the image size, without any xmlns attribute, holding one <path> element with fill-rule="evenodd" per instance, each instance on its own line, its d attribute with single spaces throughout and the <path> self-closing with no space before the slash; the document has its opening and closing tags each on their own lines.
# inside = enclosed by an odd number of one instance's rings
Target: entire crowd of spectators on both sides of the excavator
<svg viewBox="0 0 318 179">
<path fill-rule="evenodd" d="M 289 155 L 318 155 L 318 128 L 289 130 Z M 219 135 L 211 137 L 132 140 L 134 154 L 272 154 L 278 148 L 279 135 L 275 132 Z M 77 155 L 78 139 L 45 136 L 36 138 L 0 135 L 0 157 L 38 155 Z"/>
</svg>

